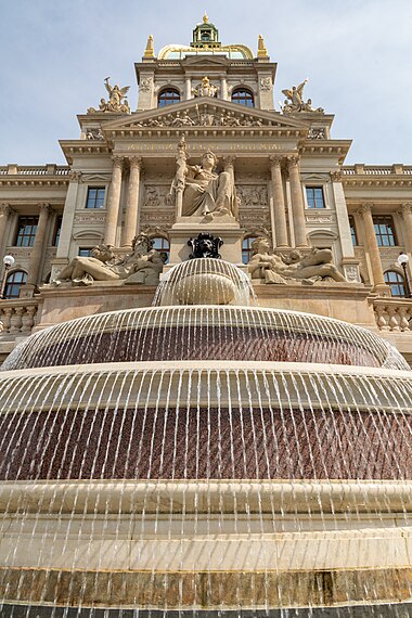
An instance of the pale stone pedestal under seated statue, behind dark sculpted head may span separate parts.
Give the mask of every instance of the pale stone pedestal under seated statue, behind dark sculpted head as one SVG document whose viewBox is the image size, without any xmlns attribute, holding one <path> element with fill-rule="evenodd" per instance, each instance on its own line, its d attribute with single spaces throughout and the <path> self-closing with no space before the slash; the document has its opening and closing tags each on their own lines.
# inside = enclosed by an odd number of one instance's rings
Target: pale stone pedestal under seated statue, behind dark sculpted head
<svg viewBox="0 0 412 618">
<path fill-rule="evenodd" d="M 223 241 L 219 249 L 222 259 L 235 265 L 242 263 L 243 231 L 233 217 L 217 217 L 211 221 L 206 221 L 205 217 L 179 217 L 169 231 L 170 266 L 189 259 L 192 249 L 188 241 L 201 232 L 220 236 Z"/>
</svg>

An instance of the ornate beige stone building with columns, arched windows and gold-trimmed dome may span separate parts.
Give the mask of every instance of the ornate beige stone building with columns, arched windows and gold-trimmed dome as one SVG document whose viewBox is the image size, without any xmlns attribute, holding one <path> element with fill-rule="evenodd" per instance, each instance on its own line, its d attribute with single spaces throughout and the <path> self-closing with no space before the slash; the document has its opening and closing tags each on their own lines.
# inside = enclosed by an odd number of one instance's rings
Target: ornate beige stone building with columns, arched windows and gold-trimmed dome
<svg viewBox="0 0 412 618">
<path fill-rule="evenodd" d="M 207 232 L 245 270 L 259 236 L 286 261 L 329 249 L 345 282 L 255 279 L 259 302 L 379 330 L 411 360 L 410 270 L 397 258 L 412 257 L 412 165 L 345 165 L 350 140 L 333 138 L 327 102 L 312 104 L 302 82 L 275 110 L 263 39 L 256 53 L 223 44 L 206 16 L 189 44 L 156 54 L 149 37 L 136 75 L 137 106 L 107 79 L 106 99 L 83 102 L 95 106 L 60 142 L 66 166 L 0 168 L 0 254 L 15 260 L 2 271 L 0 358 L 33 330 L 151 304 L 144 281 L 53 284 L 94 246 L 121 259 L 147 234 L 166 272 Z M 180 165 L 190 171 L 179 179 Z"/>
</svg>

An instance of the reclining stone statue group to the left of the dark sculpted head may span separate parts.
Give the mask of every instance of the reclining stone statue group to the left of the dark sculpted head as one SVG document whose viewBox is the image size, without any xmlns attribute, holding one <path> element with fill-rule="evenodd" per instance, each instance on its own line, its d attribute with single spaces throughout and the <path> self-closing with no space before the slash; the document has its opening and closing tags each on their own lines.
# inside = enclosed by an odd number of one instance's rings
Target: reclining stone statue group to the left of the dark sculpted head
<svg viewBox="0 0 412 618">
<path fill-rule="evenodd" d="M 92 285 L 94 281 L 124 279 L 125 283 L 157 285 L 163 263 L 160 254 L 153 249 L 153 241 L 147 234 L 139 234 L 131 254 L 116 260 L 111 246 L 98 245 L 90 257 L 73 258 L 52 284 L 72 281 L 74 285 Z"/>
</svg>

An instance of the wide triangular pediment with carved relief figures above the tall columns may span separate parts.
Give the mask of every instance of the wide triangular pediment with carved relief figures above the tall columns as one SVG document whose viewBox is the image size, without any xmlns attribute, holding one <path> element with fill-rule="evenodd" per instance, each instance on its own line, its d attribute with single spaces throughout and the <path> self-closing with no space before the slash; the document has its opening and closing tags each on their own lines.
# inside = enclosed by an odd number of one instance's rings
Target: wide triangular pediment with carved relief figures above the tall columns
<svg viewBox="0 0 412 618">
<path fill-rule="evenodd" d="M 128 134 L 146 130 L 191 130 L 204 129 L 250 131 L 276 130 L 293 131 L 294 134 L 306 136 L 309 124 L 283 116 L 279 112 L 268 112 L 255 107 L 246 107 L 221 99 L 202 96 L 181 101 L 166 107 L 136 112 L 127 117 L 108 121 L 102 126 L 106 134 Z"/>
</svg>

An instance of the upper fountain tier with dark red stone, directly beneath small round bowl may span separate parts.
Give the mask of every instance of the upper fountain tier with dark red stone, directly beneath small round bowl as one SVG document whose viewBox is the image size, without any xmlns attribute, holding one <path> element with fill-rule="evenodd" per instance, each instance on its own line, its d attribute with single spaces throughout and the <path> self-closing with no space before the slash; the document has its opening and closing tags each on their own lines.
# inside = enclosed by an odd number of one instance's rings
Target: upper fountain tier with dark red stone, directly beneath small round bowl
<svg viewBox="0 0 412 618">
<path fill-rule="evenodd" d="M 378 335 L 339 320 L 258 307 L 151 307 L 36 333 L 3 370 L 77 363 L 249 360 L 408 369 Z"/>
</svg>

